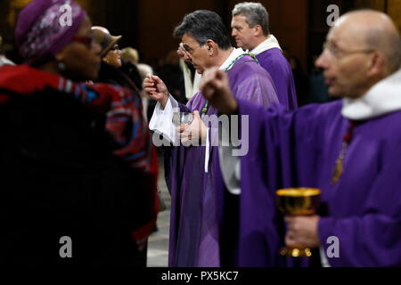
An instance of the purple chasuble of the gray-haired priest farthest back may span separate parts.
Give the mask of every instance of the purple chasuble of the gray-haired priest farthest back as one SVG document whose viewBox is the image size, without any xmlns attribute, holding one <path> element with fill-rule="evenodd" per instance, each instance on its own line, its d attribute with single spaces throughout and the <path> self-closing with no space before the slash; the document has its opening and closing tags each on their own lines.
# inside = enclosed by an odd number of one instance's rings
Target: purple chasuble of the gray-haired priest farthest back
<svg viewBox="0 0 401 285">
<path fill-rule="evenodd" d="M 278 48 L 269 49 L 257 56 L 260 66 L 266 69 L 273 79 L 277 97 L 288 110 L 297 109 L 297 93 L 290 63 Z"/>
</svg>

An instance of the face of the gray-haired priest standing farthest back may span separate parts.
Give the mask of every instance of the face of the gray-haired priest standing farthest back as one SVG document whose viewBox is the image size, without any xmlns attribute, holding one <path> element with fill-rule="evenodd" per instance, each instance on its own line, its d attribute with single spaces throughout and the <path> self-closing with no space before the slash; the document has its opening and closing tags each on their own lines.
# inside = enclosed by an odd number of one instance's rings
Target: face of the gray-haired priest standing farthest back
<svg viewBox="0 0 401 285">
<path fill-rule="evenodd" d="M 257 46 L 254 44 L 255 27 L 250 28 L 245 16 L 241 14 L 233 16 L 231 28 L 231 36 L 235 38 L 237 47 L 241 47 L 244 50 L 251 50 Z"/>
</svg>

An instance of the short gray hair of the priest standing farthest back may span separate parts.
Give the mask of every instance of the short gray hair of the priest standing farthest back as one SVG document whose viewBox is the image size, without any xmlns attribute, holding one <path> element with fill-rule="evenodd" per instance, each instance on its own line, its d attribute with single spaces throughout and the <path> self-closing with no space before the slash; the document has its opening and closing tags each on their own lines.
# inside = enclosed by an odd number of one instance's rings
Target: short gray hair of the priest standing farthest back
<svg viewBox="0 0 401 285">
<path fill-rule="evenodd" d="M 242 2 L 236 4 L 233 8 L 233 16 L 239 14 L 246 18 L 246 21 L 248 25 L 250 25 L 250 28 L 253 28 L 256 25 L 260 25 L 265 36 L 268 36 L 270 34 L 269 14 L 262 4 L 255 2 Z"/>
</svg>

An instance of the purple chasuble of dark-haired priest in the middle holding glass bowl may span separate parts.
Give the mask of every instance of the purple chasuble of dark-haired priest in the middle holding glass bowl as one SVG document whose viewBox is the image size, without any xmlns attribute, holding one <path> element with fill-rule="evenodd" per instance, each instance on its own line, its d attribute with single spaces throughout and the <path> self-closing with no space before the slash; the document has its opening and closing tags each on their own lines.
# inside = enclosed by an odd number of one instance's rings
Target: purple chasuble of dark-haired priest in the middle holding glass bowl
<svg viewBox="0 0 401 285">
<path fill-rule="evenodd" d="M 267 107 L 278 102 L 274 84 L 266 72 L 250 56 L 242 56 L 227 71 L 231 90 L 236 98 Z M 199 110 L 206 100 L 195 94 L 182 111 Z M 206 115 L 217 115 L 209 106 Z M 217 129 L 209 128 L 210 137 Z M 205 173 L 205 146 L 164 148 L 165 175 L 171 194 L 169 266 L 219 266 L 219 225 L 215 169 L 218 150 L 210 146 L 209 171 Z"/>
</svg>

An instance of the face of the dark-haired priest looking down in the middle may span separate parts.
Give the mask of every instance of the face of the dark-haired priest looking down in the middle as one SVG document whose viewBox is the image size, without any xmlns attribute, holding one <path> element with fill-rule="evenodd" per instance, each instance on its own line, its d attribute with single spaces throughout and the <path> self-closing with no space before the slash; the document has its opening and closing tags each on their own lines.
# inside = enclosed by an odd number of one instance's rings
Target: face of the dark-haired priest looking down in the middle
<svg viewBox="0 0 401 285">
<path fill-rule="evenodd" d="M 208 43 L 200 45 L 194 37 L 189 36 L 186 33 L 184 34 L 182 41 L 184 49 L 189 53 L 190 61 L 198 73 L 202 74 L 205 69 L 213 67 L 209 56 L 210 47 Z"/>
</svg>

